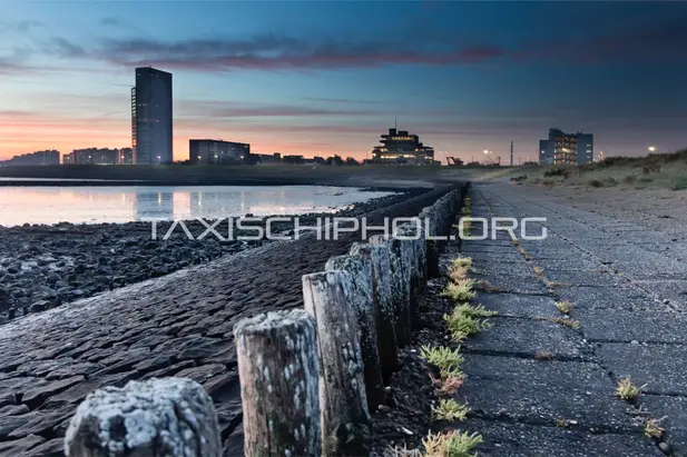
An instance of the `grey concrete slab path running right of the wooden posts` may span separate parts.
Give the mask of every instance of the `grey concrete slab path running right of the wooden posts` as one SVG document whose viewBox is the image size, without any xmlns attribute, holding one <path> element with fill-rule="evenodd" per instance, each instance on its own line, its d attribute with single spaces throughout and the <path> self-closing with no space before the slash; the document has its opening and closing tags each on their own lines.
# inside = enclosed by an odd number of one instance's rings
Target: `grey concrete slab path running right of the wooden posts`
<svg viewBox="0 0 687 457">
<path fill-rule="evenodd" d="M 546 217 L 548 229 L 461 248 L 498 288 L 475 302 L 500 316 L 462 348 L 480 455 L 660 456 L 661 441 L 687 455 L 687 246 L 542 188 L 483 183 L 471 197 L 473 217 Z M 563 300 L 579 328 L 551 320 Z M 635 405 L 615 395 L 626 376 L 644 386 Z M 660 440 L 644 435 L 648 418 L 663 418 Z"/>
</svg>

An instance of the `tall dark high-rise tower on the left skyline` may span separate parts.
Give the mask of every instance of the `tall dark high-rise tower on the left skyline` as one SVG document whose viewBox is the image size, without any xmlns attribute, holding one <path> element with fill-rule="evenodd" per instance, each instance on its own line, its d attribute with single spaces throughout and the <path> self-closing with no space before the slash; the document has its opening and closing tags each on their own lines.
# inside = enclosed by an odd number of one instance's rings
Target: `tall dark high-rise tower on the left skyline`
<svg viewBox="0 0 687 457">
<path fill-rule="evenodd" d="M 134 163 L 173 161 L 171 73 L 151 67 L 136 69 L 131 89 Z"/>
</svg>

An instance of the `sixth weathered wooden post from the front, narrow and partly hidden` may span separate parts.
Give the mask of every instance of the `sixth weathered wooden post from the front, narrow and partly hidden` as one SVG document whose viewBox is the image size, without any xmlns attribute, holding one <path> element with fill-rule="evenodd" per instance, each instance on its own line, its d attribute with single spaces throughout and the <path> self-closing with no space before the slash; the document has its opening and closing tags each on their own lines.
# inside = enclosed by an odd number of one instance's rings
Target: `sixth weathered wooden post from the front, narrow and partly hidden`
<svg viewBox="0 0 687 457">
<path fill-rule="evenodd" d="M 384 238 L 382 235 L 370 237 L 370 244 L 384 246 L 389 250 L 391 265 L 391 285 L 393 304 L 396 309 L 396 342 L 399 347 L 410 344 L 410 271 L 408 269 L 408 252 L 401 240 L 391 237 Z"/>
</svg>

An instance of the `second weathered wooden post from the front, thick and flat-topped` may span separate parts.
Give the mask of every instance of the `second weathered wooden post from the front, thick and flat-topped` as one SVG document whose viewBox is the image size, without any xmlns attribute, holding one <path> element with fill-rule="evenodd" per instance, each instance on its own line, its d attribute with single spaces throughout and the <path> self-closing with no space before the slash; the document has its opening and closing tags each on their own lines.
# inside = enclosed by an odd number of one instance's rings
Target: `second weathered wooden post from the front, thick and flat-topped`
<svg viewBox="0 0 687 457">
<path fill-rule="evenodd" d="M 322 450 L 315 321 L 303 309 L 234 326 L 244 411 L 244 454 L 316 456 Z"/>
</svg>

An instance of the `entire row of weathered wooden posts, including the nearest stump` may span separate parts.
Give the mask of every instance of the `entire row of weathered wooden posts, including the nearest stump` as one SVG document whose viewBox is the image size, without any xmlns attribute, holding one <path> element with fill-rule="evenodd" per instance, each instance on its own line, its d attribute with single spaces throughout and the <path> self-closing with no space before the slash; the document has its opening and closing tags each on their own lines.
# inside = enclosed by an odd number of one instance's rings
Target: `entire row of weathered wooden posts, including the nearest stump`
<svg viewBox="0 0 687 457">
<path fill-rule="evenodd" d="M 424 208 L 419 238 L 416 225 L 406 223 L 394 237 L 356 242 L 325 271 L 303 276 L 304 309 L 236 324 L 246 457 L 370 455 L 370 413 L 385 403 L 398 350 L 419 324 L 426 280 L 439 275 L 444 241 L 430 235 L 451 231 L 465 191 L 451 190 Z M 70 420 L 65 455 L 224 454 L 203 387 L 161 378 L 91 393 Z"/>
</svg>

